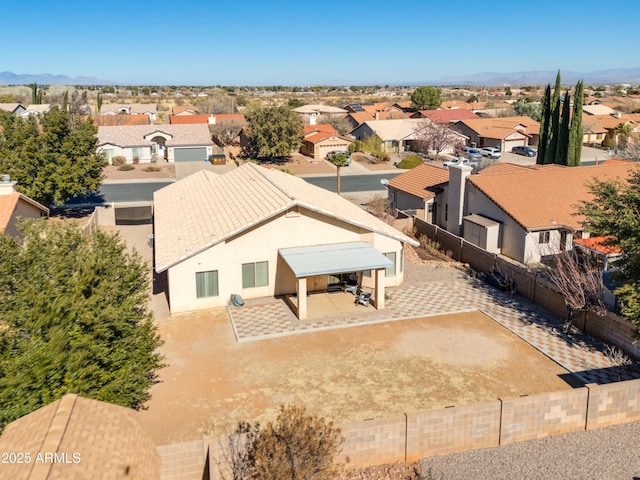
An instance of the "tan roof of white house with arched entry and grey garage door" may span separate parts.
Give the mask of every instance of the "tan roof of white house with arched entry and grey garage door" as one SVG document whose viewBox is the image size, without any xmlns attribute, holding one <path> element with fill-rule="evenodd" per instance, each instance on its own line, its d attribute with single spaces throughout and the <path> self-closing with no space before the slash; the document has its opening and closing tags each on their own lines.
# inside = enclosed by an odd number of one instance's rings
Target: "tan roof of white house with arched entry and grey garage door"
<svg viewBox="0 0 640 480">
<path fill-rule="evenodd" d="M 213 145 L 209 126 L 190 125 L 127 125 L 98 127 L 98 145 L 111 144 L 119 147 L 151 145 L 145 136 L 153 132 L 165 132 L 172 136 L 166 141 L 168 146 Z"/>
</svg>

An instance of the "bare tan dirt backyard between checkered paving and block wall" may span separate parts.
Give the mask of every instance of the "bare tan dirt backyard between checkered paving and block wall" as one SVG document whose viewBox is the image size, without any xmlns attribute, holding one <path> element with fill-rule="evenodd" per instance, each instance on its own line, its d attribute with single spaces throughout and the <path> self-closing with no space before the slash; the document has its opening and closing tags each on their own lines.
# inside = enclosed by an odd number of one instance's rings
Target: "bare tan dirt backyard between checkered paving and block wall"
<svg viewBox="0 0 640 480">
<path fill-rule="evenodd" d="M 225 309 L 159 322 L 168 366 L 139 420 L 157 445 L 305 406 L 337 423 L 570 388 L 480 312 L 237 343 Z"/>
</svg>

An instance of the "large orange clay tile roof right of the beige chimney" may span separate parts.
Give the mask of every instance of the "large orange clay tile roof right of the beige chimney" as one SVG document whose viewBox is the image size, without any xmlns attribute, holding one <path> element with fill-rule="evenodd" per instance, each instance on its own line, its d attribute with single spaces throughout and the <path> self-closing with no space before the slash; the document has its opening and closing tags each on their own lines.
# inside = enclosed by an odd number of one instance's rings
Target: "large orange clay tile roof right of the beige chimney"
<svg viewBox="0 0 640 480">
<path fill-rule="evenodd" d="M 594 179 L 624 180 L 633 168 L 633 162 L 611 160 L 598 166 L 505 169 L 501 174 L 488 168 L 468 181 L 526 230 L 580 229 L 584 218 L 576 215 L 577 206 L 591 198 L 588 185 Z"/>
</svg>

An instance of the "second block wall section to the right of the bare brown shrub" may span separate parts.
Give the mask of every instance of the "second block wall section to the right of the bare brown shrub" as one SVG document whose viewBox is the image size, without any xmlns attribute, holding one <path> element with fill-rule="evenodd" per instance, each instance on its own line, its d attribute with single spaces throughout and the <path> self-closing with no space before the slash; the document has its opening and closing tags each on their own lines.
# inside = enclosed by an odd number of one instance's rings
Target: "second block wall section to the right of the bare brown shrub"
<svg viewBox="0 0 640 480">
<path fill-rule="evenodd" d="M 407 460 L 498 446 L 500 409 L 496 400 L 408 415 Z"/>
</svg>

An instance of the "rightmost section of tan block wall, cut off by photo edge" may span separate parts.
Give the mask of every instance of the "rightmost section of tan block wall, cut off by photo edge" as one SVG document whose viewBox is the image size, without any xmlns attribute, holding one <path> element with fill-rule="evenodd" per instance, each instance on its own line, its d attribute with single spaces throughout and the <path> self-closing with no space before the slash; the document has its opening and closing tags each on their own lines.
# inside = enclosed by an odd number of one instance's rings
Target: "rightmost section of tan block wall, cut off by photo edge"
<svg viewBox="0 0 640 480">
<path fill-rule="evenodd" d="M 640 380 L 589 385 L 587 430 L 640 420 Z"/>
</svg>

